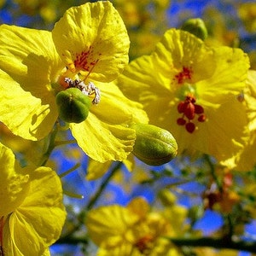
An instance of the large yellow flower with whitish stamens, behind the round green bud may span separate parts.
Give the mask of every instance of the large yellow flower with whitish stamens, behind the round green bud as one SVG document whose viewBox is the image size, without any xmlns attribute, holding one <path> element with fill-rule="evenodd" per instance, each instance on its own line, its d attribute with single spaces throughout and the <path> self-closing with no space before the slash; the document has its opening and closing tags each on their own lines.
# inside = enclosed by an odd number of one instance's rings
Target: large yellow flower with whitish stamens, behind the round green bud
<svg viewBox="0 0 256 256">
<path fill-rule="evenodd" d="M 58 117 L 55 96 L 74 86 L 98 103 L 87 119 L 70 124 L 80 148 L 101 162 L 124 160 L 135 138 L 127 125 L 131 101 L 109 82 L 127 64 L 129 44 L 108 1 L 68 9 L 52 32 L 0 26 L 0 121 L 15 135 L 39 140 Z"/>
</svg>

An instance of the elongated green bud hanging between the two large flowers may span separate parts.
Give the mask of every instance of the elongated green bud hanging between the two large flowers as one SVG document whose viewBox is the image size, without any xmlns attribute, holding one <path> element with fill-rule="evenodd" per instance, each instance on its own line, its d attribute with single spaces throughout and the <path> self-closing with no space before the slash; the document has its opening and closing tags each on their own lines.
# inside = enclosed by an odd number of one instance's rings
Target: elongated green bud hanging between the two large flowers
<svg viewBox="0 0 256 256">
<path fill-rule="evenodd" d="M 136 141 L 132 153 L 149 166 L 161 166 L 177 155 L 171 132 L 154 125 L 135 124 Z"/>
</svg>

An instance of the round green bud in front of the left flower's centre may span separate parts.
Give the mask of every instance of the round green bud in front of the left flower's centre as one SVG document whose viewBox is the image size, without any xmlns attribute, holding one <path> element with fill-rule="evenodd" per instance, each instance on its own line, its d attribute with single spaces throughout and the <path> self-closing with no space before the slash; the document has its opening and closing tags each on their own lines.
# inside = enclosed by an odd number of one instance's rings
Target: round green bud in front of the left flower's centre
<svg viewBox="0 0 256 256">
<path fill-rule="evenodd" d="M 56 103 L 62 120 L 67 123 L 81 123 L 89 114 L 91 101 L 78 88 L 68 88 L 57 94 Z"/>
</svg>

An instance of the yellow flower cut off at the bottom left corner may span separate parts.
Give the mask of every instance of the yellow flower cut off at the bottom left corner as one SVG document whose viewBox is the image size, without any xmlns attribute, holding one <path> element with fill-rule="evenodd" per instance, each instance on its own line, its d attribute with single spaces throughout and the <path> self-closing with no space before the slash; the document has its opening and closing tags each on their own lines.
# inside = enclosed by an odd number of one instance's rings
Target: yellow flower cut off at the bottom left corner
<svg viewBox="0 0 256 256">
<path fill-rule="evenodd" d="M 47 167 L 20 168 L 15 155 L 2 144 L 0 160 L 2 251 L 18 256 L 47 253 L 61 235 L 66 218 L 59 177 Z"/>
</svg>

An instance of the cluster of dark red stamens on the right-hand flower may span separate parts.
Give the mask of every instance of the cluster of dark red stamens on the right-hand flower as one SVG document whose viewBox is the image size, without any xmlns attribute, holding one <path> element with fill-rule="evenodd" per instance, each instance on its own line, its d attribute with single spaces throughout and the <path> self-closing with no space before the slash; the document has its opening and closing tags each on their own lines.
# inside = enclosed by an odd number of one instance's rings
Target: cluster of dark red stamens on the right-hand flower
<svg viewBox="0 0 256 256">
<path fill-rule="evenodd" d="M 184 125 L 189 133 L 195 131 L 195 117 L 199 122 L 206 120 L 204 108 L 195 102 L 195 96 L 189 93 L 183 102 L 177 104 L 177 112 L 182 113 L 182 117 L 177 119 L 177 125 Z"/>
</svg>

